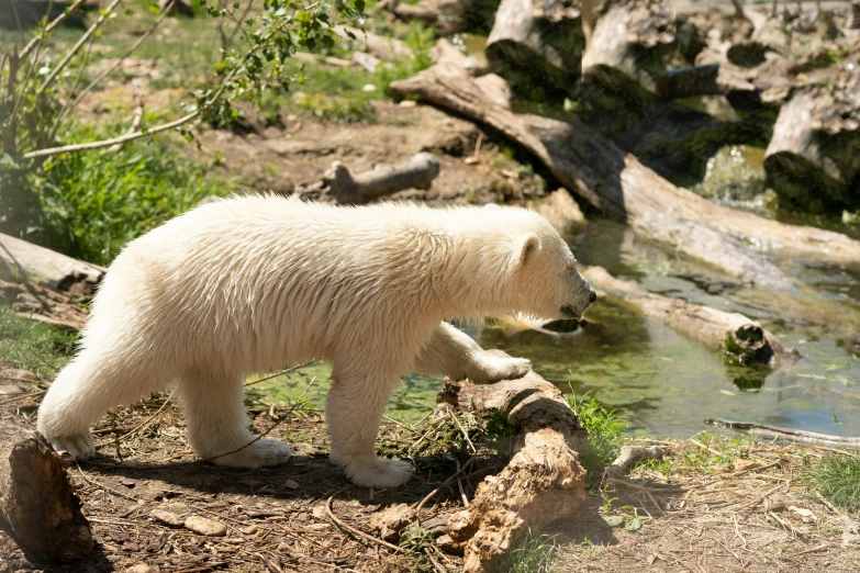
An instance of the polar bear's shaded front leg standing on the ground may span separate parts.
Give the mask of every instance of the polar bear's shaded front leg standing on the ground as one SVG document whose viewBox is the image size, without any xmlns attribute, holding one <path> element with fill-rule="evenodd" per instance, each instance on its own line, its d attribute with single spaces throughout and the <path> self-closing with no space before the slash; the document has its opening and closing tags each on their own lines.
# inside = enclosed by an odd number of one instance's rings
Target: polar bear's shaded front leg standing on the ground
<svg viewBox="0 0 860 573">
<path fill-rule="evenodd" d="M 412 464 L 378 458 L 376 439 L 382 412 L 397 374 L 388 377 L 332 373 L 325 404 L 325 419 L 332 439 L 331 458 L 344 467 L 346 476 L 366 487 L 397 487 L 412 478 Z"/>
</svg>

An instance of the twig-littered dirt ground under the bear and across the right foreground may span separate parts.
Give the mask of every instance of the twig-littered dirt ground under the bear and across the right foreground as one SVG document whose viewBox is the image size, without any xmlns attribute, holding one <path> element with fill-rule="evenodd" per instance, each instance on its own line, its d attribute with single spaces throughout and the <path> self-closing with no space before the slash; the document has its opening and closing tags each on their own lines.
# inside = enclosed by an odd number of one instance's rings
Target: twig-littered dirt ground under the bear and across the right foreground
<svg viewBox="0 0 860 573">
<path fill-rule="evenodd" d="M 38 390 L 29 374 L 3 372 L 2 416 L 32 424 Z M 92 525 L 91 557 L 43 568 L 0 533 L 0 573 L 135 566 L 136 573 L 433 571 L 422 553 L 397 554 L 333 519 L 377 535 L 369 524 L 375 513 L 393 504 L 417 504 L 456 471 L 455 458 L 462 463 L 470 457 L 465 447 L 446 445 L 445 425 L 433 416 L 414 427 L 383 427 L 380 452 L 410 456 L 416 476 L 405 487 L 371 491 L 349 486 L 328 462 L 319 412 L 249 406 L 256 430 L 271 429 L 269 437 L 292 446 L 293 458 L 280 468 L 233 470 L 194 460 L 181 415 L 168 398 L 153 396 L 102 418 L 93 431 L 98 457 L 69 469 Z M 420 442 L 442 448 L 416 449 Z M 554 571 L 860 568 L 857 516 L 830 506 L 800 480 L 803 463 L 815 463 L 830 450 L 704 437 L 657 443 L 671 452 L 662 465 L 640 467 L 610 484 L 604 498 L 592 490 L 576 519 L 543 531 L 557 547 Z M 463 480 L 467 496 L 504 463 L 488 448 L 479 457 L 477 469 Z M 438 536 L 461 506 L 457 488 L 445 488 L 426 504 L 421 525 Z M 158 509 L 176 516 L 178 525 L 155 517 Z M 225 535 L 187 529 L 182 520 L 191 515 L 223 525 Z M 459 569 L 458 555 L 433 551 L 446 571 Z"/>
</svg>

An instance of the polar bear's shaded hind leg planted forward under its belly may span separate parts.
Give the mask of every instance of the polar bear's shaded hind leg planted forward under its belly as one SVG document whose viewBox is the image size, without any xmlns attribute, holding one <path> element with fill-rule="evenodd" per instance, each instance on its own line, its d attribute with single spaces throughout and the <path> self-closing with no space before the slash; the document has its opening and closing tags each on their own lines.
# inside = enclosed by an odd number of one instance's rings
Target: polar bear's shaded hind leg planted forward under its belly
<svg viewBox="0 0 860 573">
<path fill-rule="evenodd" d="M 194 370 L 182 375 L 177 391 L 186 408 L 188 441 L 204 460 L 257 469 L 278 465 L 290 458 L 286 443 L 256 439 L 248 431 L 239 377 Z"/>
</svg>

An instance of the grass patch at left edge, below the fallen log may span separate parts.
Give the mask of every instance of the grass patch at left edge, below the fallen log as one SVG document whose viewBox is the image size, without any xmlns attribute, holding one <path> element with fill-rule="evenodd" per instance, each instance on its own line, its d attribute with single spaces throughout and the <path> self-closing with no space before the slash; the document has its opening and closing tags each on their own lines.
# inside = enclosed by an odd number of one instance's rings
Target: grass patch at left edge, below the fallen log
<svg viewBox="0 0 860 573">
<path fill-rule="evenodd" d="M 52 379 L 75 350 L 77 333 L 18 316 L 0 304 L 0 363 Z"/>
</svg>

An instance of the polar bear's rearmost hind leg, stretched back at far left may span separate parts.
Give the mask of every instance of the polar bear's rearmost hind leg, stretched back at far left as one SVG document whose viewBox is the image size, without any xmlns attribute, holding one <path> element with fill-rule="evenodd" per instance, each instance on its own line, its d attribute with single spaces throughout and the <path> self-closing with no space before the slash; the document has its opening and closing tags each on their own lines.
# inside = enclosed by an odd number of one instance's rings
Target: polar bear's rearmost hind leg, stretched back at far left
<svg viewBox="0 0 860 573">
<path fill-rule="evenodd" d="M 89 427 L 110 408 L 161 390 L 169 380 L 126 353 L 86 349 L 51 384 L 38 408 L 38 430 L 57 451 L 82 460 L 96 453 Z"/>
</svg>

